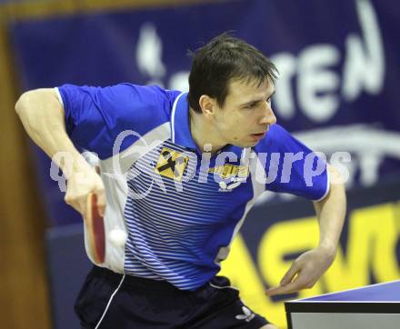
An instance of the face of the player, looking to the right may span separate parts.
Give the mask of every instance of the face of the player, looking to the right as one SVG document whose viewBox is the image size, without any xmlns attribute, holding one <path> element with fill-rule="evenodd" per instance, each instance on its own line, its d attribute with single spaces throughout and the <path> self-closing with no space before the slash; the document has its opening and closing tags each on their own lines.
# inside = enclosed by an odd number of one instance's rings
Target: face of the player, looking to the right
<svg viewBox="0 0 400 329">
<path fill-rule="evenodd" d="M 224 144 L 252 147 L 265 137 L 276 122 L 271 108 L 275 86 L 268 79 L 254 82 L 233 80 L 223 107 L 216 105 L 215 129 Z"/>
</svg>

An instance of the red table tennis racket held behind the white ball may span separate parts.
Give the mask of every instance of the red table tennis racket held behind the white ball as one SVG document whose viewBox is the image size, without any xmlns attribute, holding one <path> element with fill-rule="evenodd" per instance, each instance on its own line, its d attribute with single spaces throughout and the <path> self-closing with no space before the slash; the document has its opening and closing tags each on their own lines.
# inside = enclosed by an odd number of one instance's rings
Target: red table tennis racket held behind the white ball
<svg viewBox="0 0 400 329">
<path fill-rule="evenodd" d="M 97 209 L 97 195 L 90 193 L 86 198 L 85 230 L 89 248 L 95 264 L 105 263 L 105 222 Z"/>
</svg>

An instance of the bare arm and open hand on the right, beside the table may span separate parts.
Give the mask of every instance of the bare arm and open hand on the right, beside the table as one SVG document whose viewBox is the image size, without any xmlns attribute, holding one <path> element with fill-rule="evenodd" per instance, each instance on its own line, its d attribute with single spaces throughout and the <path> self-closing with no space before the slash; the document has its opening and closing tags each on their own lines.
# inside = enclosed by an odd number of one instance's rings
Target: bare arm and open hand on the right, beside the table
<svg viewBox="0 0 400 329">
<path fill-rule="evenodd" d="M 329 165 L 328 170 L 330 191 L 323 200 L 314 202 L 319 221 L 319 244 L 295 260 L 280 285 L 266 291 L 269 296 L 291 294 L 301 289 L 312 288 L 335 260 L 345 222 L 345 184 L 342 175 L 333 166 Z"/>
</svg>

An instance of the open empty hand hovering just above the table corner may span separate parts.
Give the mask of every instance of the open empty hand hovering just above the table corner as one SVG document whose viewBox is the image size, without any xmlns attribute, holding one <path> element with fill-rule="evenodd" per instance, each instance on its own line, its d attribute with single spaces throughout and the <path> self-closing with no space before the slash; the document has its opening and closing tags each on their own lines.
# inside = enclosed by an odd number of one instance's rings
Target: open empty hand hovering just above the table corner
<svg viewBox="0 0 400 329">
<path fill-rule="evenodd" d="M 301 254 L 286 272 L 281 284 L 268 289 L 265 294 L 291 294 L 301 289 L 312 288 L 334 259 L 335 251 L 322 246 Z"/>
</svg>

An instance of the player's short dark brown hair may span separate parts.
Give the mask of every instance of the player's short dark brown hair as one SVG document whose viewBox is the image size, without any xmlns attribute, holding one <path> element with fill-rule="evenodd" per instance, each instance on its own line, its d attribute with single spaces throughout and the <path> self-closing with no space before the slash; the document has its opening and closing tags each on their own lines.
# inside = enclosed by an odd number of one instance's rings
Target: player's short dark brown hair
<svg viewBox="0 0 400 329">
<path fill-rule="evenodd" d="M 277 69 L 255 46 L 228 33 L 216 36 L 208 44 L 189 52 L 193 58 L 187 99 L 195 112 L 201 113 L 201 95 L 225 103 L 233 79 L 261 85 L 265 79 L 275 84 Z"/>
</svg>

